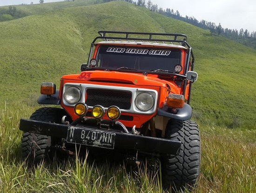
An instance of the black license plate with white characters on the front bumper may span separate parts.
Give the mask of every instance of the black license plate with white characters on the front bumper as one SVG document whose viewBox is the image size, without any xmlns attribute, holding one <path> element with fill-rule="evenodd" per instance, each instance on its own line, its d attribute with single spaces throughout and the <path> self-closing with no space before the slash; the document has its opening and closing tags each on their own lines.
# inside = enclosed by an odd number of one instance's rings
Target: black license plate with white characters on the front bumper
<svg viewBox="0 0 256 193">
<path fill-rule="evenodd" d="M 114 149 L 115 133 L 69 127 L 67 130 L 67 142 Z"/>
</svg>

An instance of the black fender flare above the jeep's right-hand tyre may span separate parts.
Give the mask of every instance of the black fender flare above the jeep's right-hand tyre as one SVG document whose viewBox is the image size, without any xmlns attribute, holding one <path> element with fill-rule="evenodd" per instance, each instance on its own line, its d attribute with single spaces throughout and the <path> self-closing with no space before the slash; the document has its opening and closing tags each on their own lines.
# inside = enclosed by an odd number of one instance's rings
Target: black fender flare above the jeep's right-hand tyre
<svg viewBox="0 0 256 193">
<path fill-rule="evenodd" d="M 177 109 L 177 113 L 173 113 L 172 108 L 164 105 L 161 109 L 157 109 L 157 115 L 177 120 L 189 120 L 192 116 L 192 108 L 189 104 L 185 103 L 183 108 Z"/>
</svg>

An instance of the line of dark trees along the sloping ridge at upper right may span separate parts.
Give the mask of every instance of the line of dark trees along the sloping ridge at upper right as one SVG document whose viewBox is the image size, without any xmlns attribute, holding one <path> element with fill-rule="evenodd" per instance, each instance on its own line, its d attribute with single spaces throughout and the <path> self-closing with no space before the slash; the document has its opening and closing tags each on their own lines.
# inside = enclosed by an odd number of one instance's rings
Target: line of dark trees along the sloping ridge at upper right
<svg viewBox="0 0 256 193">
<path fill-rule="evenodd" d="M 109 2 L 113 0 L 102 0 L 103 2 Z M 102 2 L 101 0 L 96 0 L 95 3 Z M 182 17 L 178 10 L 174 11 L 173 9 L 166 8 L 163 9 L 162 7 L 158 7 L 157 4 L 153 4 L 151 0 L 123 0 L 129 3 L 133 3 L 137 6 L 143 6 L 148 8 L 150 11 L 160 13 L 170 18 L 179 19 L 185 21 L 189 24 L 194 26 L 200 27 L 202 29 L 209 30 L 211 34 L 221 35 L 228 39 L 235 40 L 243 45 L 247 45 L 256 49 L 256 32 L 249 32 L 247 29 L 243 30 L 241 28 L 239 31 L 237 29 L 228 29 L 223 28 L 221 24 L 216 25 L 214 22 L 208 22 L 206 20 L 198 21 L 195 17 L 185 16 Z"/>
</svg>

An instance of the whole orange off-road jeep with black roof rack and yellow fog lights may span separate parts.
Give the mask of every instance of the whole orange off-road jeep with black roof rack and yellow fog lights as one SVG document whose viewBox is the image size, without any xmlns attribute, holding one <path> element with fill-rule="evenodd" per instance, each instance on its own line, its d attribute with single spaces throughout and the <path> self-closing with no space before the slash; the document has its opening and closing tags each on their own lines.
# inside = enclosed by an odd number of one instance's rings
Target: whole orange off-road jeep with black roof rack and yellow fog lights
<svg viewBox="0 0 256 193">
<path fill-rule="evenodd" d="M 22 156 L 40 162 L 59 149 L 118 152 L 130 161 L 159 158 L 165 187 L 193 187 L 200 172 L 198 126 L 190 121 L 194 55 L 183 34 L 100 31 L 81 73 L 41 83 L 43 107 L 24 131 Z"/>
</svg>

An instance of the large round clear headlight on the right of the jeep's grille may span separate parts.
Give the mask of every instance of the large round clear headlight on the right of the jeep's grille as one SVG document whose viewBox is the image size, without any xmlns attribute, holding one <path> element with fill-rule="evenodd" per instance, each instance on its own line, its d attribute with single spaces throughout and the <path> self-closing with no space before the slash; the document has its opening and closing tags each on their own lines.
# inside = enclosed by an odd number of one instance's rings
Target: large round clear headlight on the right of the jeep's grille
<svg viewBox="0 0 256 193">
<path fill-rule="evenodd" d="M 154 106 L 154 97 L 147 92 L 141 92 L 135 99 L 135 105 L 141 111 L 148 111 Z"/>
</svg>

